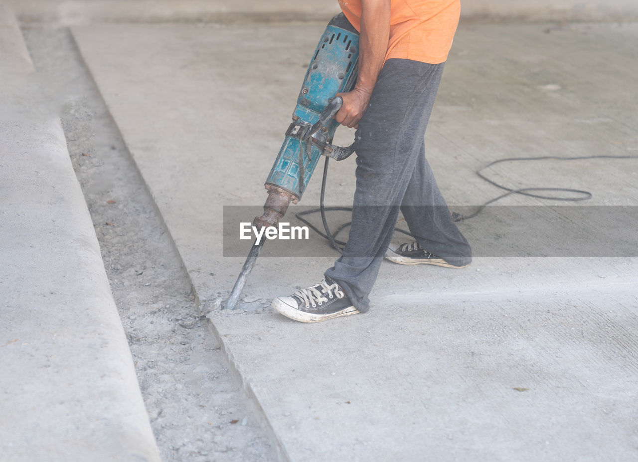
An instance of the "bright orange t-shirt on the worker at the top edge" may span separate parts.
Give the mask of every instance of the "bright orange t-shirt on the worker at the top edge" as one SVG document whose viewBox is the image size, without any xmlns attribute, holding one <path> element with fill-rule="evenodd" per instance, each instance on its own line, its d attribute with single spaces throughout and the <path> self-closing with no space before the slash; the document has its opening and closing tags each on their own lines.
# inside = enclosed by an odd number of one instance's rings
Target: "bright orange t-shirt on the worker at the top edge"
<svg viewBox="0 0 638 462">
<path fill-rule="evenodd" d="M 361 31 L 361 0 L 339 0 L 350 24 Z M 459 24 L 460 0 L 392 0 L 385 59 L 438 64 L 447 59 Z"/>
</svg>

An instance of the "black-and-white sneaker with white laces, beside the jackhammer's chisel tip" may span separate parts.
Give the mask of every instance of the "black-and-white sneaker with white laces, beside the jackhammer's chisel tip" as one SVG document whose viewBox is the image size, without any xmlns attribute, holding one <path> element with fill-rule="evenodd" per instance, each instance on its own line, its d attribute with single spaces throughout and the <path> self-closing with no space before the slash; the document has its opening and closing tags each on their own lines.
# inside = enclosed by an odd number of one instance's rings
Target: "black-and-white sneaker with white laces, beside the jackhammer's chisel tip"
<svg viewBox="0 0 638 462">
<path fill-rule="evenodd" d="M 271 306 L 286 318 L 302 323 L 318 323 L 359 312 L 339 284 L 328 277 L 291 296 L 275 298 Z"/>
</svg>

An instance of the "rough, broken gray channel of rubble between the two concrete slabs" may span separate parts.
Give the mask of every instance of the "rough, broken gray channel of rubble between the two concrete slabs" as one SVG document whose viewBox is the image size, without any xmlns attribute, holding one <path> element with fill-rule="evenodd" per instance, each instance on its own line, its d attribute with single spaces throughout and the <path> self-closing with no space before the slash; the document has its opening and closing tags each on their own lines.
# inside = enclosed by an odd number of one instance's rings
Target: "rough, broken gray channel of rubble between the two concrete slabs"
<svg viewBox="0 0 638 462">
<path fill-rule="evenodd" d="M 62 101 L 73 167 L 101 245 L 154 435 L 167 461 L 269 461 L 274 450 L 197 314 L 188 276 L 68 29 L 23 31 Z M 126 70 L 123 70 L 126 72 Z"/>
</svg>

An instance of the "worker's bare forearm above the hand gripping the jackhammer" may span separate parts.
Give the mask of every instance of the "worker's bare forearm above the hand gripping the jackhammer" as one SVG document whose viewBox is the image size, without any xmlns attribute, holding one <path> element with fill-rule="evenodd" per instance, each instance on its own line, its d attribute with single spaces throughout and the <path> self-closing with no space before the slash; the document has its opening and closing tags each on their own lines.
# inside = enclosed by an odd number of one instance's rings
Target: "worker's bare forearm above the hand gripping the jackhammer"
<svg viewBox="0 0 638 462">
<path fill-rule="evenodd" d="M 390 0 L 363 0 L 359 38 L 359 77 L 355 90 L 371 95 L 390 40 Z"/>
</svg>

